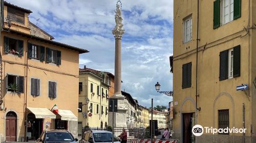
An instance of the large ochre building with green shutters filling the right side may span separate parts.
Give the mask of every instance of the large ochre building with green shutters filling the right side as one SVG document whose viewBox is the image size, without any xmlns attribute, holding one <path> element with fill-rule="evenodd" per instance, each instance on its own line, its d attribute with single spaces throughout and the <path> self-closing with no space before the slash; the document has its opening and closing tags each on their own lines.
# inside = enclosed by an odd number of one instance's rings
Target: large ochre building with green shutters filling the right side
<svg viewBox="0 0 256 143">
<path fill-rule="evenodd" d="M 173 138 L 256 141 L 255 6 L 252 0 L 174 1 Z M 204 130 L 195 137 L 196 124 L 246 131 Z"/>
</svg>

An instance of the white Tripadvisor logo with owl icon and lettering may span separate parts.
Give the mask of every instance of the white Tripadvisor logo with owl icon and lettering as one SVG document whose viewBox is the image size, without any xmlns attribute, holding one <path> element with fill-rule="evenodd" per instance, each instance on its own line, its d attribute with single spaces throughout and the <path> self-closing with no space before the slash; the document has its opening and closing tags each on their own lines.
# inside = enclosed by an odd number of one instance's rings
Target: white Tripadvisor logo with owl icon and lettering
<svg viewBox="0 0 256 143">
<path fill-rule="evenodd" d="M 217 133 L 245 133 L 246 129 L 244 128 L 220 128 L 220 129 L 216 129 L 216 128 L 212 128 L 212 127 L 202 127 L 201 125 L 195 125 L 192 128 L 192 133 L 195 136 L 201 136 L 204 132 L 205 133 L 212 133 L 212 134 L 217 134 Z"/>
</svg>

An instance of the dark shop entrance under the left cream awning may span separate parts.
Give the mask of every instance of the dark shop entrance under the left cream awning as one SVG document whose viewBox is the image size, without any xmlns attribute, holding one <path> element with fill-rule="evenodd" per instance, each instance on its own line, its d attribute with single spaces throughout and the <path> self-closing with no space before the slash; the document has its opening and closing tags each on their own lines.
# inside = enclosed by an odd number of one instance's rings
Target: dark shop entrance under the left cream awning
<svg viewBox="0 0 256 143">
<path fill-rule="evenodd" d="M 42 123 L 41 118 L 35 118 L 33 113 L 28 114 L 28 139 L 35 140 L 39 138 L 42 133 Z"/>
</svg>

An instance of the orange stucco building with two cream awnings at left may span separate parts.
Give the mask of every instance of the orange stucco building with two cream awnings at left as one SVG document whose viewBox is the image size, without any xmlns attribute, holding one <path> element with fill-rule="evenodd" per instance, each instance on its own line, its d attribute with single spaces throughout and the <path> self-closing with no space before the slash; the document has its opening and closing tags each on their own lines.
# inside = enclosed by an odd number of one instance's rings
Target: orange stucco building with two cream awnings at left
<svg viewBox="0 0 256 143">
<path fill-rule="evenodd" d="M 37 139 L 45 129 L 76 137 L 79 54 L 88 51 L 53 41 L 29 22 L 30 10 L 6 2 L 0 10 L 0 142 Z"/>
</svg>

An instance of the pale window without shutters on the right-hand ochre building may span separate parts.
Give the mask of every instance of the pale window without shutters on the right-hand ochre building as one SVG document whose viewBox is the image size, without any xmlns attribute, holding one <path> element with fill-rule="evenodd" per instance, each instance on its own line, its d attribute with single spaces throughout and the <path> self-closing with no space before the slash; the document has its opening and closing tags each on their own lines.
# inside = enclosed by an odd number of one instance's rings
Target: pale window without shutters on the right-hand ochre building
<svg viewBox="0 0 256 143">
<path fill-rule="evenodd" d="M 184 43 L 192 39 L 192 16 L 189 16 L 183 20 L 184 29 Z"/>
</svg>

